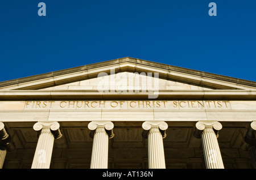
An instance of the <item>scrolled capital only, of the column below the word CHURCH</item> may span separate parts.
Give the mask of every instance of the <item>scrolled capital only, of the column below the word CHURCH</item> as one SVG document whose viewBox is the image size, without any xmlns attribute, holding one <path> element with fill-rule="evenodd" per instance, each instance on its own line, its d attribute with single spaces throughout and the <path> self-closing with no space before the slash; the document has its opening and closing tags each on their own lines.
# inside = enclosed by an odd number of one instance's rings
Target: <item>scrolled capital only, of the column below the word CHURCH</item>
<svg viewBox="0 0 256 180">
<path fill-rule="evenodd" d="M 88 128 L 91 131 L 90 137 L 93 138 L 96 128 L 105 128 L 106 133 L 109 135 L 109 139 L 114 137 L 113 128 L 114 124 L 111 121 L 92 121 L 88 124 Z"/>
</svg>

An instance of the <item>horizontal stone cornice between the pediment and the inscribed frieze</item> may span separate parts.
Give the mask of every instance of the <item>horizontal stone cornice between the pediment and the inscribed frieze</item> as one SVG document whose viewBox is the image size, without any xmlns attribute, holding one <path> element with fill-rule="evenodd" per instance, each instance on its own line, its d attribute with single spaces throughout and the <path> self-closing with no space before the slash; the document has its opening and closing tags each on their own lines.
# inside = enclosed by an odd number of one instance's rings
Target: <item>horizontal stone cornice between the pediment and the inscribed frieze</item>
<svg viewBox="0 0 256 180">
<path fill-rule="evenodd" d="M 121 96 L 122 95 L 122 96 Z M 0 100 L 118 100 L 148 99 L 148 95 L 154 95 L 151 92 L 98 92 L 86 90 L 0 90 Z M 157 99 L 194 99 L 194 100 L 256 100 L 256 90 L 177 90 L 177 91 L 159 91 Z"/>
</svg>

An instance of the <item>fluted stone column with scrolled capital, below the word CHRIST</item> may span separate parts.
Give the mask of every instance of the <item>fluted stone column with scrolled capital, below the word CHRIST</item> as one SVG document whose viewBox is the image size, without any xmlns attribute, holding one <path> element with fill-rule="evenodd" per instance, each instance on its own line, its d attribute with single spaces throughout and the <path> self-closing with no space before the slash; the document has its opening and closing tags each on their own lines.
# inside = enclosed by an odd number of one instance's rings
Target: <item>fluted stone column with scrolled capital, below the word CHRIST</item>
<svg viewBox="0 0 256 180">
<path fill-rule="evenodd" d="M 163 138 L 166 137 L 166 122 L 144 122 L 142 136 L 148 139 L 148 168 L 165 169 Z"/>
</svg>

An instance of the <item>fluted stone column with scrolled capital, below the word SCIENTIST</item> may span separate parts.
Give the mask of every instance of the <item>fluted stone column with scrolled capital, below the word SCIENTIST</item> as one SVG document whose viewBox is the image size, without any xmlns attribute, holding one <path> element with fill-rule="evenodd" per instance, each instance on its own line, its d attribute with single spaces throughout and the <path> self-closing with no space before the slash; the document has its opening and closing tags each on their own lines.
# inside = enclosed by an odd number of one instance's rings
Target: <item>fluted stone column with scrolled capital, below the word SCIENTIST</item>
<svg viewBox="0 0 256 180">
<path fill-rule="evenodd" d="M 195 137 L 202 139 L 205 166 L 207 169 L 223 169 L 224 164 L 221 158 L 220 147 L 218 146 L 216 132 L 221 130 L 220 122 L 203 122 L 196 123 Z M 214 132 L 216 131 L 216 132 Z"/>
</svg>

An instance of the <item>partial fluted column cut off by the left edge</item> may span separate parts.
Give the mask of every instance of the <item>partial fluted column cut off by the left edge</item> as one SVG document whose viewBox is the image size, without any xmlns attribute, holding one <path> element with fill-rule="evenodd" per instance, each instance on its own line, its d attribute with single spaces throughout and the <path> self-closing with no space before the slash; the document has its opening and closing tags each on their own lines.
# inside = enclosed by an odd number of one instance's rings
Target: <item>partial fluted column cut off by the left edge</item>
<svg viewBox="0 0 256 180">
<path fill-rule="evenodd" d="M 11 141 L 11 136 L 5 130 L 5 125 L 0 122 L 0 169 L 3 168 L 6 152 L 14 151 L 15 148 L 14 143 Z"/>
</svg>

